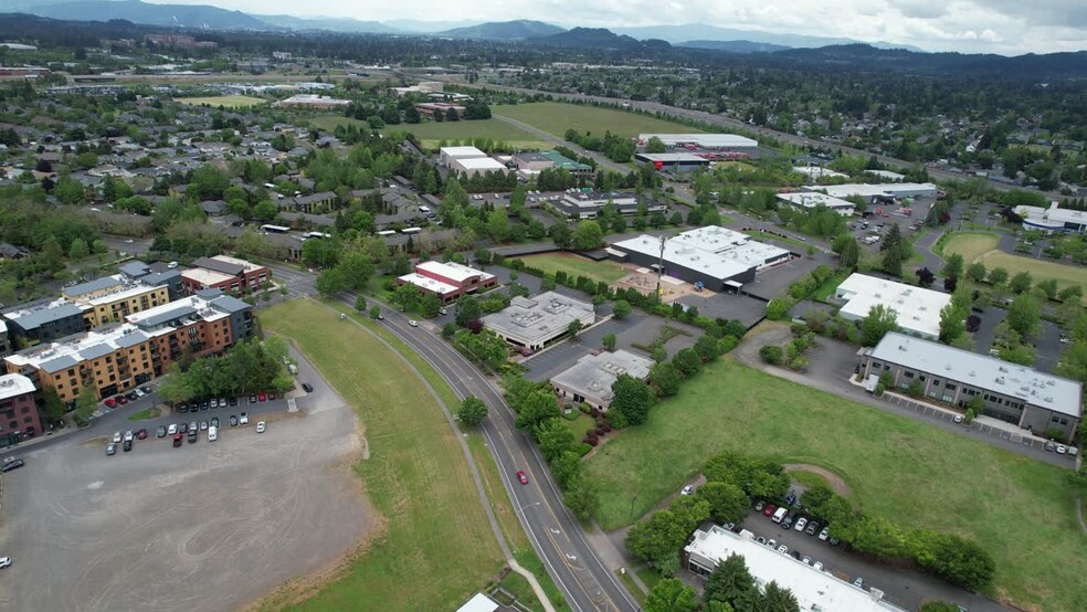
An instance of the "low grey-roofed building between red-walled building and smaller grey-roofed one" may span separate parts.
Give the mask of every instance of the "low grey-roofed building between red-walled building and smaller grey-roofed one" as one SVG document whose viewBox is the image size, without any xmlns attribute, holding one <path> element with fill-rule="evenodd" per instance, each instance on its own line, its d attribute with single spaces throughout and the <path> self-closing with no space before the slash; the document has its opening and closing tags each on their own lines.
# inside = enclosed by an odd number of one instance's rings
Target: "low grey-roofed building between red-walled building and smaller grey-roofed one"
<svg viewBox="0 0 1087 612">
<path fill-rule="evenodd" d="M 483 326 L 511 345 L 539 350 L 564 336 L 574 320 L 582 327 L 592 325 L 597 320 L 592 304 L 546 292 L 513 298 L 504 310 L 483 317 Z"/>
</svg>

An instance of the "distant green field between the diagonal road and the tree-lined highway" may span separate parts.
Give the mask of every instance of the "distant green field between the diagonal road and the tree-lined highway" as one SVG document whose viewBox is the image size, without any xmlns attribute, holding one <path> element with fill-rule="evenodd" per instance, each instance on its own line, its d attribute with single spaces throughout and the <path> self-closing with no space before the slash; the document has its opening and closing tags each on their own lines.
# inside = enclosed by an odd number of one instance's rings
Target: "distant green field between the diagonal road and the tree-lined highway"
<svg viewBox="0 0 1087 612">
<path fill-rule="evenodd" d="M 685 134 L 703 130 L 682 124 L 665 122 L 647 115 L 635 115 L 625 110 L 562 104 L 559 102 L 532 102 L 511 106 L 495 106 L 495 115 L 503 115 L 526 123 L 535 128 L 563 137 L 566 130 L 577 129 L 603 136 L 604 131 L 633 138 L 639 134 Z"/>
</svg>

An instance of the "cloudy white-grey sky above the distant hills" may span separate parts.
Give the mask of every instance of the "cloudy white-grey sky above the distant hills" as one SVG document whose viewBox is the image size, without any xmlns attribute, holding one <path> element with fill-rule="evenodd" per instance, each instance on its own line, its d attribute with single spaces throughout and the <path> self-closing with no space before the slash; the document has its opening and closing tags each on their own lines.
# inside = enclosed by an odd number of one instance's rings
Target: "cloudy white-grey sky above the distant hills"
<svg viewBox="0 0 1087 612">
<path fill-rule="evenodd" d="M 507 21 L 563 27 L 704 23 L 1005 55 L 1087 49 L 1087 0 L 148 0 L 254 14 Z M 313 12 L 300 11 L 313 7 Z"/>
</svg>

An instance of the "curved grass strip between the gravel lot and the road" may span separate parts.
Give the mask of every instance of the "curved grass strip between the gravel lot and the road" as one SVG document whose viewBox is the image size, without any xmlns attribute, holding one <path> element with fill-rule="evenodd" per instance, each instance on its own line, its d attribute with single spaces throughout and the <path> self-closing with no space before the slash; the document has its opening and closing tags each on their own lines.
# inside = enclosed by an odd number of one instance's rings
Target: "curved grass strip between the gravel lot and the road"
<svg viewBox="0 0 1087 612">
<path fill-rule="evenodd" d="M 261 609 L 456 609 L 504 560 L 441 407 L 400 357 L 334 310 L 296 299 L 261 320 L 293 339 L 358 412 L 370 458 L 355 471 L 383 524 L 341 577 L 316 592 L 273 593 Z"/>
</svg>

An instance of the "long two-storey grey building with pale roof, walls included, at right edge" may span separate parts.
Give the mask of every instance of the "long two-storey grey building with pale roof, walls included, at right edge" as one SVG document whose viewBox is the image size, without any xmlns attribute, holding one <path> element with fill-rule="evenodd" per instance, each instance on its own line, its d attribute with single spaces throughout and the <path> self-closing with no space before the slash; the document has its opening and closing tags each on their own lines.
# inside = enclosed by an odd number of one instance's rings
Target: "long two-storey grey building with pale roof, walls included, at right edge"
<svg viewBox="0 0 1087 612">
<path fill-rule="evenodd" d="M 884 336 L 863 366 L 865 378 L 889 372 L 895 387 L 916 381 L 926 398 L 959 408 L 981 397 L 986 416 L 1038 434 L 1059 431 L 1062 441 L 1083 415 L 1079 382 L 903 334 Z"/>
</svg>

